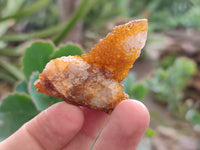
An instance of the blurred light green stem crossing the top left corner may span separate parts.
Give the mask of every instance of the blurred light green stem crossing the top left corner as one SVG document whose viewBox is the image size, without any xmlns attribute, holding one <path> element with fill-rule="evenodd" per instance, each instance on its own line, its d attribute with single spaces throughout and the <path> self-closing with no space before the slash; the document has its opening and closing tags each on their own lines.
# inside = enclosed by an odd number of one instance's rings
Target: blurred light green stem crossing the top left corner
<svg viewBox="0 0 200 150">
<path fill-rule="evenodd" d="M 7 17 L 4 17 L 4 18 L 0 18 L 0 22 L 6 21 L 8 19 L 21 19 L 25 16 L 29 16 L 29 15 L 37 12 L 41 8 L 45 7 L 50 1 L 51 0 L 38 0 L 33 5 L 31 5 L 29 8 L 21 10 L 21 11 L 15 13 L 14 15 L 7 16 Z"/>
</svg>

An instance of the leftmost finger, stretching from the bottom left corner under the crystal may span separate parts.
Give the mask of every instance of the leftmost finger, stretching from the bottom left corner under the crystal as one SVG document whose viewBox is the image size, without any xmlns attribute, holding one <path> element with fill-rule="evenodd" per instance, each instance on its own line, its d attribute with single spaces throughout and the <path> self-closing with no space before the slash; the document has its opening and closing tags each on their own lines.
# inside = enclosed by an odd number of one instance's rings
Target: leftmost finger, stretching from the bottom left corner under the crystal
<svg viewBox="0 0 200 150">
<path fill-rule="evenodd" d="M 83 122 L 79 107 L 60 102 L 22 126 L 0 149 L 58 150 L 79 132 Z"/>
</svg>

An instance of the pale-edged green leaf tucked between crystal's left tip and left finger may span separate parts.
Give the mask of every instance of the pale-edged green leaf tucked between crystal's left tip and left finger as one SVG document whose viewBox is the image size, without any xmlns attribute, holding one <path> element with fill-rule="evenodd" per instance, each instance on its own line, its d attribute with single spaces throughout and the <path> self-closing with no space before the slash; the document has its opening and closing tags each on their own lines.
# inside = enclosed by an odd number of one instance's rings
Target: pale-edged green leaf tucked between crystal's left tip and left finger
<svg viewBox="0 0 200 150">
<path fill-rule="evenodd" d="M 42 94 L 37 92 L 37 88 L 34 86 L 34 82 L 39 78 L 39 73 L 35 72 L 32 74 L 29 81 L 29 92 L 32 97 L 33 102 L 35 103 L 38 110 L 42 111 L 49 106 L 62 101 L 59 98 L 49 96 L 46 94 Z"/>
</svg>

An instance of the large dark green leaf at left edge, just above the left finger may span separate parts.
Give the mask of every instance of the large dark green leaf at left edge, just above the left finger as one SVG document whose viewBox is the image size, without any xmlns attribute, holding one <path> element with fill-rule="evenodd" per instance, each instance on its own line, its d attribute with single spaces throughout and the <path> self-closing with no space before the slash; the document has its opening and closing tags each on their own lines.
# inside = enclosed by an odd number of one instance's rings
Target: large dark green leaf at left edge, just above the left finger
<svg viewBox="0 0 200 150">
<path fill-rule="evenodd" d="M 12 94 L 0 106 L 0 141 L 4 140 L 39 112 L 25 94 Z"/>
</svg>

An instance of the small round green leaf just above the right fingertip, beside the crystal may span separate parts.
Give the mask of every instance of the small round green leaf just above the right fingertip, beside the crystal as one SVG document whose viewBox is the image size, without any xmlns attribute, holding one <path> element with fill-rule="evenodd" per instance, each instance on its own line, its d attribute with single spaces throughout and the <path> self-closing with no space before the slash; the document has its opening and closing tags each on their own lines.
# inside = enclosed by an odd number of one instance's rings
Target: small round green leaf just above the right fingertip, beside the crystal
<svg viewBox="0 0 200 150">
<path fill-rule="evenodd" d="M 142 84 L 137 84 L 133 87 L 132 92 L 135 99 L 143 100 L 146 96 L 147 90 Z"/>
</svg>

